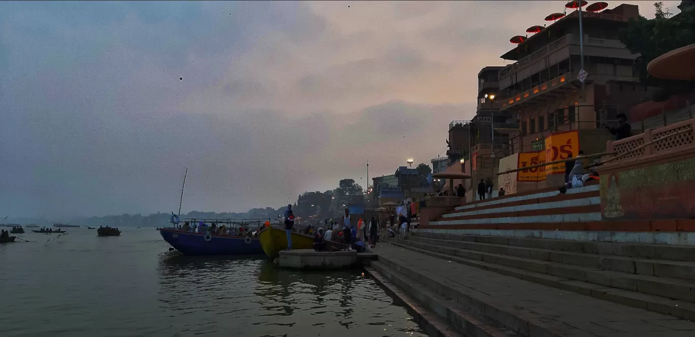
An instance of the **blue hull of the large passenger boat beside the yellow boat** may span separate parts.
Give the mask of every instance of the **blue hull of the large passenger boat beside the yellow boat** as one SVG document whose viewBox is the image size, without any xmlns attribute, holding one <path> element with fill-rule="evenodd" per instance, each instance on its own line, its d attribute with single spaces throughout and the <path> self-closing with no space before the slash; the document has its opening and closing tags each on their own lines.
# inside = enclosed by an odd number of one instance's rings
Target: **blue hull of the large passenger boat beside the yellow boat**
<svg viewBox="0 0 695 337">
<path fill-rule="evenodd" d="M 259 238 L 216 236 L 205 240 L 202 233 L 190 233 L 176 229 L 160 229 L 162 238 L 184 255 L 250 255 L 263 254 Z"/>
</svg>

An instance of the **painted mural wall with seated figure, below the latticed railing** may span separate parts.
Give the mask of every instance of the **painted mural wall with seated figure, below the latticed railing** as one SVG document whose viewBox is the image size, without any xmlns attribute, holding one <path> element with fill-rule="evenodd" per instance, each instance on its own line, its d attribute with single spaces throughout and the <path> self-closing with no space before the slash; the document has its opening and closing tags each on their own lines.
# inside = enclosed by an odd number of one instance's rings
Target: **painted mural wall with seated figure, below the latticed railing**
<svg viewBox="0 0 695 337">
<path fill-rule="evenodd" d="M 695 217 L 695 158 L 600 177 L 605 220 Z"/>
</svg>

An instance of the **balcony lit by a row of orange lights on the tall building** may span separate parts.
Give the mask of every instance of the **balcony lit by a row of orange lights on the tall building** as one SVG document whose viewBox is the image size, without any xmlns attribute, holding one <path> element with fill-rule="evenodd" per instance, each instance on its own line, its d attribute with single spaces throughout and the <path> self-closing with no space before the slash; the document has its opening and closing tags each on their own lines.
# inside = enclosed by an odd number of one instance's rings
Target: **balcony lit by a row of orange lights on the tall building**
<svg viewBox="0 0 695 337">
<path fill-rule="evenodd" d="M 502 101 L 502 108 L 500 108 L 500 110 L 504 111 L 513 106 L 521 108 L 531 101 L 537 101 L 539 97 L 543 97 L 543 99 L 561 97 L 566 91 L 574 90 L 580 86 L 580 84 L 576 84 L 579 83 L 579 80 L 575 79 L 575 77 L 573 72 L 566 72 L 555 77 L 555 79 L 550 79 L 550 81 L 543 82 L 529 90 L 514 94 L 512 97 L 508 97 Z"/>
</svg>

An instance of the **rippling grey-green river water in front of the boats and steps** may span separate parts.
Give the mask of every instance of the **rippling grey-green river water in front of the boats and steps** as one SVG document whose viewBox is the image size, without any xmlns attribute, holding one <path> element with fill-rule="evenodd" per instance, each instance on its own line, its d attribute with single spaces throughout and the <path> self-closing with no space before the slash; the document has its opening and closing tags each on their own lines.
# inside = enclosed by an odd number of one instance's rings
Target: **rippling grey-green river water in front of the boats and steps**
<svg viewBox="0 0 695 337">
<path fill-rule="evenodd" d="M 0 244 L 0 335 L 426 336 L 361 270 L 180 256 L 152 228 L 122 231 Z"/>
</svg>

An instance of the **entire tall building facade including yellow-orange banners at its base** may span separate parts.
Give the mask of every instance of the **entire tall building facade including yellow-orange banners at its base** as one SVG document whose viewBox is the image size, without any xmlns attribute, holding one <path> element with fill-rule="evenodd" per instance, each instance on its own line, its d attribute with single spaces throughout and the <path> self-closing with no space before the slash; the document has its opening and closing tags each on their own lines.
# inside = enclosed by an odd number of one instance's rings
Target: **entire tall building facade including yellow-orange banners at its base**
<svg viewBox="0 0 695 337">
<path fill-rule="evenodd" d="M 587 4 L 571 1 L 568 6 L 571 3 Z M 639 55 L 619 38 L 621 28 L 639 17 L 639 8 L 623 3 L 605 9 L 604 4 L 583 8 L 581 38 L 579 11 L 566 8 L 560 13 L 565 8 L 559 7 L 558 13 L 546 17 L 548 24 L 532 26 L 527 30 L 530 35 L 510 40 L 516 47 L 501 58 L 515 62 L 500 69 L 496 100 L 500 112 L 516 116 L 518 129 L 509 133 L 503 149 L 496 150 L 503 156 L 497 156 L 493 165 L 499 167 L 500 158 L 509 154 L 518 156 L 516 168 L 577 156 L 580 149 L 587 154 L 604 152 L 614 135 L 603 124 L 615 125 L 616 115 L 629 116 L 630 108 L 651 99 L 653 90 L 639 83 L 635 69 Z M 548 170 L 543 167 L 523 179 L 520 174 L 514 190 L 564 183 L 564 164 Z"/>
</svg>

